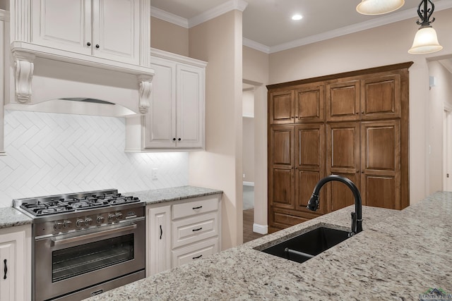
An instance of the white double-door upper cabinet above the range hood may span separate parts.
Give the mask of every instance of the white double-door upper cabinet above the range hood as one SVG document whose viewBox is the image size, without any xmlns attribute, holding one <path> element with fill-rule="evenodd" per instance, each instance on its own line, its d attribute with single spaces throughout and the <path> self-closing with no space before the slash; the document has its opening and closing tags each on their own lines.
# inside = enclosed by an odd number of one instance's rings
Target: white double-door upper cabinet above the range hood
<svg viewBox="0 0 452 301">
<path fill-rule="evenodd" d="M 32 43 L 140 63 L 139 0 L 32 1 Z"/>
</svg>

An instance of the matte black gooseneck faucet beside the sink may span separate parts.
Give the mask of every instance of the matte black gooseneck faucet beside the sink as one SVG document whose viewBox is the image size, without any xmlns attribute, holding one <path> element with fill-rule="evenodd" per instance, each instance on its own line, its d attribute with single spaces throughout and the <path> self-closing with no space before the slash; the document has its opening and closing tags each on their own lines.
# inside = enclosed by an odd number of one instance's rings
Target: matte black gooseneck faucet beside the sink
<svg viewBox="0 0 452 301">
<path fill-rule="evenodd" d="M 319 209 L 320 189 L 322 188 L 323 185 L 333 180 L 337 180 L 347 185 L 348 188 L 352 190 L 353 197 L 355 197 L 355 212 L 352 212 L 352 231 L 348 233 L 348 236 L 350 237 L 362 231 L 361 194 L 359 193 L 359 190 L 356 187 L 355 183 L 353 183 L 350 179 L 338 175 L 331 175 L 319 180 L 319 183 L 317 183 L 316 187 L 314 187 L 311 199 L 309 199 L 307 209 L 312 211 L 316 211 L 317 209 Z"/>
</svg>

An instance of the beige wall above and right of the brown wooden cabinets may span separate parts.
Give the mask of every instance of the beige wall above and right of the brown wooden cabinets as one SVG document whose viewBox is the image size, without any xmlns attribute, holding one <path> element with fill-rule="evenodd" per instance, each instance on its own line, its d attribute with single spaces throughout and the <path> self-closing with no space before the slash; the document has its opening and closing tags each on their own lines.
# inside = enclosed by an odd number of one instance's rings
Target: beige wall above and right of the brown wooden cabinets
<svg viewBox="0 0 452 301">
<path fill-rule="evenodd" d="M 410 203 L 429 194 L 429 71 L 426 58 L 452 54 L 452 9 L 434 13 L 444 49 L 436 54 L 408 54 L 418 25 L 415 18 L 270 54 L 270 83 L 413 61 L 410 67 Z"/>
</svg>

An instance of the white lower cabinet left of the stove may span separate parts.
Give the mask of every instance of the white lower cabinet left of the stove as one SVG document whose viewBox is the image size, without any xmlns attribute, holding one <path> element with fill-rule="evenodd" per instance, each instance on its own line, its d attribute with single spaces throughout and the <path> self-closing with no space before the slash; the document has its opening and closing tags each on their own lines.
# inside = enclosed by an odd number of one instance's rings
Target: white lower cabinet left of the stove
<svg viewBox="0 0 452 301">
<path fill-rule="evenodd" d="M 0 300 L 31 300 L 31 229 L 0 229 Z"/>
</svg>

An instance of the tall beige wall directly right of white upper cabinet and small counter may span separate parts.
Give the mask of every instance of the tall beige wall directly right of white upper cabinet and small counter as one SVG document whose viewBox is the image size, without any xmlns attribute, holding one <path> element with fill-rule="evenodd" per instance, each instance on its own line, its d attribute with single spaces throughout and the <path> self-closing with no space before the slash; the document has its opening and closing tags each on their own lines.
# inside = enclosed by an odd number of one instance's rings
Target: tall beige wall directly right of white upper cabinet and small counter
<svg viewBox="0 0 452 301">
<path fill-rule="evenodd" d="M 243 241 L 242 13 L 189 30 L 189 54 L 206 68 L 206 152 L 189 155 L 189 184 L 222 190 L 222 250 Z"/>
</svg>

